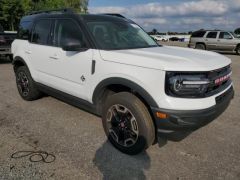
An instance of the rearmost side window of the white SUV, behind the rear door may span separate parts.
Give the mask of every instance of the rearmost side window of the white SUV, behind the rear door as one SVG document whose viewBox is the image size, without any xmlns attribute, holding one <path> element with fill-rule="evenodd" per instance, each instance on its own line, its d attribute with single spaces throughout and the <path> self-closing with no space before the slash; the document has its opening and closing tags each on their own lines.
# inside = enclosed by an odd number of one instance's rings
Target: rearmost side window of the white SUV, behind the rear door
<svg viewBox="0 0 240 180">
<path fill-rule="evenodd" d="M 30 39 L 30 32 L 31 32 L 32 21 L 21 21 L 17 38 L 18 39 Z"/>
</svg>

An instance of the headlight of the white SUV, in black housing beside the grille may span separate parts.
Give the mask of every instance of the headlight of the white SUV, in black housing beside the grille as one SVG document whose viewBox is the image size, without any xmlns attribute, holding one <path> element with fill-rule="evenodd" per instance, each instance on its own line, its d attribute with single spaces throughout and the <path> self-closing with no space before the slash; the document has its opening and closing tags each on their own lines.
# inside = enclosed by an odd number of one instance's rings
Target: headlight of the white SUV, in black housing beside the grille
<svg viewBox="0 0 240 180">
<path fill-rule="evenodd" d="M 167 72 L 165 91 L 174 97 L 203 97 L 209 83 L 206 74 Z"/>
</svg>

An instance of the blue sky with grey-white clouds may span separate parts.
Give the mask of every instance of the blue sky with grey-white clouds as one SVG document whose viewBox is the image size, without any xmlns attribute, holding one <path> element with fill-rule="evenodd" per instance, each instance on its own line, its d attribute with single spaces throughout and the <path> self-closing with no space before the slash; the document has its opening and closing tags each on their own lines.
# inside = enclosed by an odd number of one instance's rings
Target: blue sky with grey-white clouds
<svg viewBox="0 0 240 180">
<path fill-rule="evenodd" d="M 120 13 L 146 31 L 240 27 L 240 0 L 89 0 L 89 12 Z"/>
</svg>

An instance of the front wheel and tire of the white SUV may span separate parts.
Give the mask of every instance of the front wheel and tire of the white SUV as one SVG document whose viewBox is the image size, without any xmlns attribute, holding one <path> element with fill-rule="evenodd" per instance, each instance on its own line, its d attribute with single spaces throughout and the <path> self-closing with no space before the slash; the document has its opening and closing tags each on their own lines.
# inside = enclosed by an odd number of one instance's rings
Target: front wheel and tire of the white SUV
<svg viewBox="0 0 240 180">
<path fill-rule="evenodd" d="M 155 128 L 147 107 L 128 92 L 107 98 L 102 123 L 109 141 L 125 154 L 138 154 L 155 140 Z"/>
</svg>

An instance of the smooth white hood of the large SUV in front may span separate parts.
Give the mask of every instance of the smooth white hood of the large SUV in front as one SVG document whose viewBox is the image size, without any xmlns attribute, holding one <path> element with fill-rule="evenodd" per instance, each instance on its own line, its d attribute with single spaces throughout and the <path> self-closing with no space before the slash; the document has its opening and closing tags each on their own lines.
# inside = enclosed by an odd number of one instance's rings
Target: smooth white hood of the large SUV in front
<svg viewBox="0 0 240 180">
<path fill-rule="evenodd" d="M 100 50 L 103 60 L 164 71 L 211 71 L 231 60 L 215 52 L 161 46 L 129 50 Z"/>
</svg>

